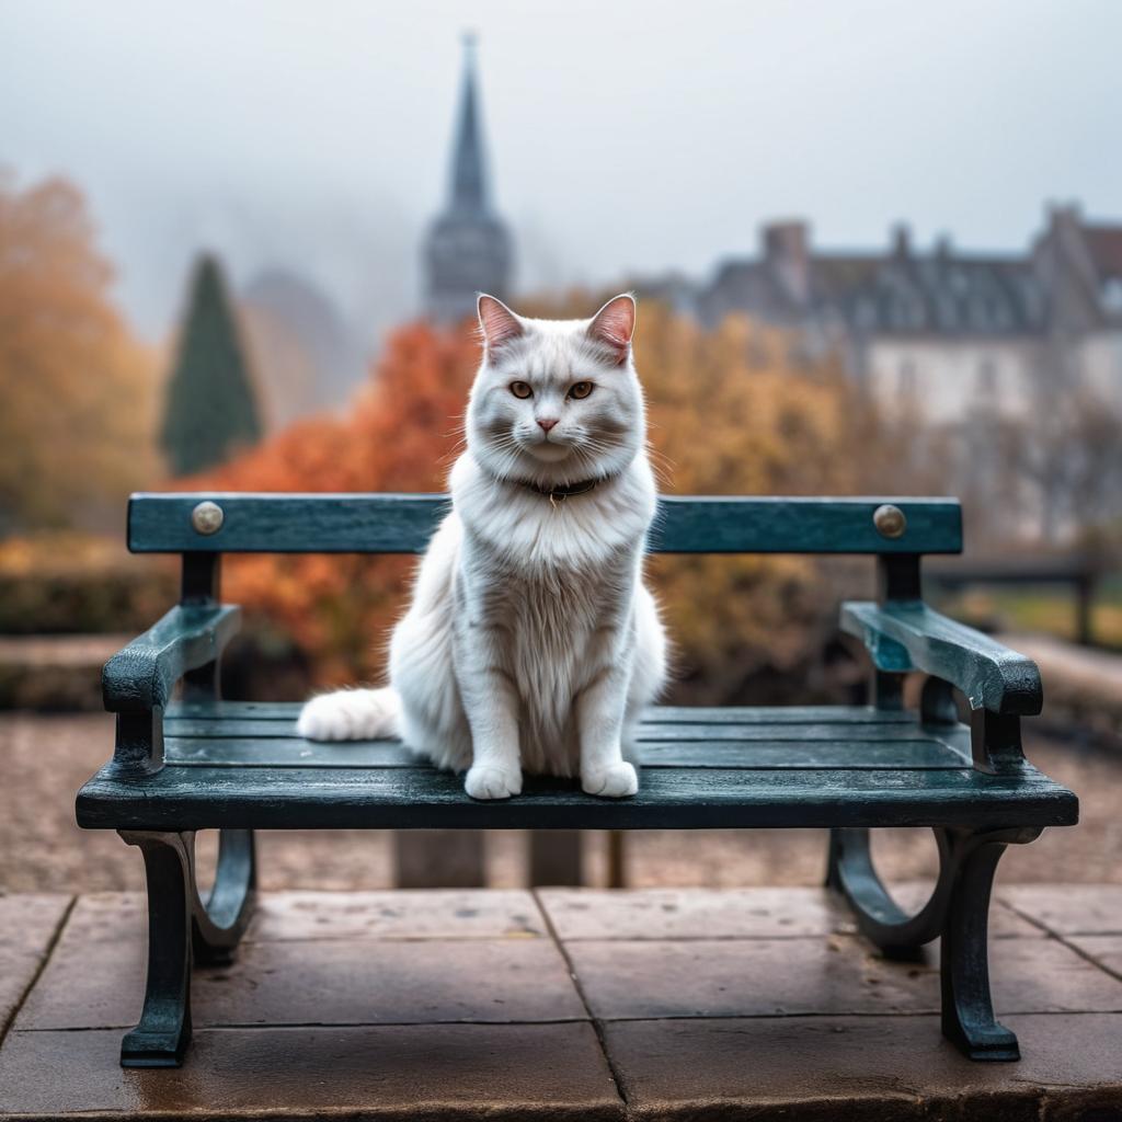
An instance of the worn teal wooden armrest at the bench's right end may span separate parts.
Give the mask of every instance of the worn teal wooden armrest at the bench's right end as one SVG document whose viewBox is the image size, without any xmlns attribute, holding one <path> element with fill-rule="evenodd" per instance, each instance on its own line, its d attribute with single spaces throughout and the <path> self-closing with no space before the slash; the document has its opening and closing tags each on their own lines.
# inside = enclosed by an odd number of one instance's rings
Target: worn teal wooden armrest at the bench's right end
<svg viewBox="0 0 1122 1122">
<path fill-rule="evenodd" d="M 1023 654 L 919 601 L 842 605 L 842 629 L 863 640 L 879 670 L 919 670 L 962 690 L 972 709 L 1031 717 L 1043 692 Z"/>
</svg>

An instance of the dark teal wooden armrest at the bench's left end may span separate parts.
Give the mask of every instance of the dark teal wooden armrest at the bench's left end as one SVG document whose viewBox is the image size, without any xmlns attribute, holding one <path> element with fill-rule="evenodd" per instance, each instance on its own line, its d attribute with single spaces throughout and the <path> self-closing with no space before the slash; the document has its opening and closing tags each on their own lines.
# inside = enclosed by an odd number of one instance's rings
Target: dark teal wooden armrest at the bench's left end
<svg viewBox="0 0 1122 1122">
<path fill-rule="evenodd" d="M 234 605 L 181 605 L 118 651 L 101 672 L 110 712 L 150 712 L 171 700 L 188 671 L 213 662 L 238 631 Z"/>
</svg>

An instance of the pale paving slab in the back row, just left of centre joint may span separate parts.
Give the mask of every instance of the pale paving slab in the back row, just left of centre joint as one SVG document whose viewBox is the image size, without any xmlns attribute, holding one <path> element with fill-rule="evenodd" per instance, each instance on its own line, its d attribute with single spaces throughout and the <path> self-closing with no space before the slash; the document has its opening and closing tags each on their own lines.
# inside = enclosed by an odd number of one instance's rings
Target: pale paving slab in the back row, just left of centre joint
<svg viewBox="0 0 1122 1122">
<path fill-rule="evenodd" d="M 545 937 L 532 893 L 456 890 L 273 892 L 261 898 L 246 932 L 250 941 Z"/>
</svg>

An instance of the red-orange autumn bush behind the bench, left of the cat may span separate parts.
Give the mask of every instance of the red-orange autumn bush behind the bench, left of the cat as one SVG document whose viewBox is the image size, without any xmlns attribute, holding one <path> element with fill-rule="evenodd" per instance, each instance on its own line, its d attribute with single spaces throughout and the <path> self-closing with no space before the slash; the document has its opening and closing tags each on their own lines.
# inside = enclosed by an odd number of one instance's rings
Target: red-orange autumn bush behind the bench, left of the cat
<svg viewBox="0 0 1122 1122">
<path fill-rule="evenodd" d="M 432 491 L 462 440 L 461 416 L 479 361 L 472 333 L 422 323 L 395 331 L 369 385 L 346 415 L 297 422 L 187 489 Z M 408 558 L 321 554 L 230 558 L 223 596 L 250 626 L 291 636 L 320 684 L 373 679 L 401 614 Z"/>
</svg>

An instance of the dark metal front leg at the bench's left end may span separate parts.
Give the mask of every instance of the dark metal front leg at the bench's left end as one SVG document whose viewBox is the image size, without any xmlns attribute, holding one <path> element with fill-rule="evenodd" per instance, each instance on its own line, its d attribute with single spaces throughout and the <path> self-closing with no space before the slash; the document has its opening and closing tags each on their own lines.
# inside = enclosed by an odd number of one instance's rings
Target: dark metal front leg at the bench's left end
<svg viewBox="0 0 1122 1122">
<path fill-rule="evenodd" d="M 140 1023 L 121 1041 L 121 1067 L 178 1067 L 191 1041 L 192 858 L 182 834 L 121 830 L 144 854 L 148 982 Z"/>
</svg>

